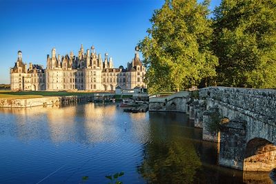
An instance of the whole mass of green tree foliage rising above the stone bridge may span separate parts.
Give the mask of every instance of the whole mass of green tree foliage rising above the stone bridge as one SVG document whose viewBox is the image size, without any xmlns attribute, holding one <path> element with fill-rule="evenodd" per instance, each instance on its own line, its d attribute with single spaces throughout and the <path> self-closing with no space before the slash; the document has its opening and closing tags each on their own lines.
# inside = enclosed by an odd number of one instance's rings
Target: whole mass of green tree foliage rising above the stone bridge
<svg viewBox="0 0 276 184">
<path fill-rule="evenodd" d="M 276 88 L 276 0 L 222 0 L 212 16 L 208 4 L 166 0 L 155 10 L 139 43 L 149 92 Z"/>
</svg>

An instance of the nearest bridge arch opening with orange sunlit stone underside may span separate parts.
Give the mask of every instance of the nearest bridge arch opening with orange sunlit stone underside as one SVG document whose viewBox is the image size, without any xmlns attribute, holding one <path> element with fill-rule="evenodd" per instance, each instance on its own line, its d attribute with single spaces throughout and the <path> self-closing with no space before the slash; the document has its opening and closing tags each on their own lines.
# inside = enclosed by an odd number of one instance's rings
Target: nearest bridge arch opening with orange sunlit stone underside
<svg viewBox="0 0 276 184">
<path fill-rule="evenodd" d="M 276 145 L 266 139 L 248 141 L 244 154 L 244 170 L 269 172 L 276 167 Z"/>
</svg>

